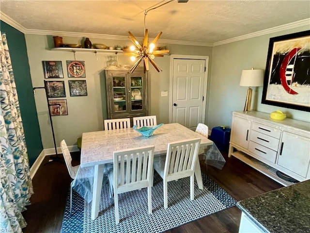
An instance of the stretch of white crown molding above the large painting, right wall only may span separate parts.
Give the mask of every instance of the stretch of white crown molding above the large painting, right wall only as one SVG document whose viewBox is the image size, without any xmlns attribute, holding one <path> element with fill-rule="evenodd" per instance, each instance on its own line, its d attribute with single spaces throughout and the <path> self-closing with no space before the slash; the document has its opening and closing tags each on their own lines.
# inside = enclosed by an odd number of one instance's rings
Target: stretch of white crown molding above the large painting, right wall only
<svg viewBox="0 0 310 233">
<path fill-rule="evenodd" d="M 213 43 L 213 46 L 224 45 L 224 44 L 232 43 L 232 42 L 239 41 L 239 40 L 245 40 L 245 39 L 249 39 L 249 38 L 253 38 L 253 37 L 257 37 L 261 35 L 266 35 L 270 33 L 277 33 L 277 32 L 281 32 L 284 30 L 298 28 L 298 27 L 307 26 L 307 25 L 310 26 L 310 18 L 306 18 L 306 19 L 299 20 L 293 23 L 288 23 L 288 24 L 284 24 L 284 25 L 269 28 L 269 29 L 265 29 L 265 30 L 258 31 L 255 33 L 249 33 L 249 34 L 237 36 L 231 39 L 222 40 L 222 41 Z"/>
</svg>

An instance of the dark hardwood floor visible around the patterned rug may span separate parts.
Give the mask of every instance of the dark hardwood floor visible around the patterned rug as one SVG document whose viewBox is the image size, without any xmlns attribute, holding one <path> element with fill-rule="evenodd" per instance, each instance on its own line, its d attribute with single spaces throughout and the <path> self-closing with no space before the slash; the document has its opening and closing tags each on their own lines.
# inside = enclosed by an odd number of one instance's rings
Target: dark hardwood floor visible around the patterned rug
<svg viewBox="0 0 310 233">
<path fill-rule="evenodd" d="M 269 179 L 260 172 L 236 158 L 228 158 L 223 152 L 226 164 L 222 170 L 206 166 L 201 162 L 202 171 L 217 182 L 236 200 L 243 200 L 277 188 L 281 184 Z M 78 164 L 79 155 L 72 153 L 73 165 Z M 24 233 L 60 233 L 65 200 L 71 179 L 65 164 L 48 163 L 47 156 L 32 183 L 34 194 L 31 205 L 23 212 L 28 225 Z M 217 212 L 190 222 L 167 233 L 237 233 L 241 211 L 236 207 Z"/>
</svg>

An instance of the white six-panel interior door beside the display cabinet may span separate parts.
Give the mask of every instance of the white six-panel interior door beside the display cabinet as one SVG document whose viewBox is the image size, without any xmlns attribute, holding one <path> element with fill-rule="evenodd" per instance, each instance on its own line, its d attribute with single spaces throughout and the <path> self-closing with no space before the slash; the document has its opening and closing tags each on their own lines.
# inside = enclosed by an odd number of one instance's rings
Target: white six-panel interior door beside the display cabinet
<svg viewBox="0 0 310 233">
<path fill-rule="evenodd" d="M 173 59 L 172 123 L 192 130 L 204 123 L 205 64 L 205 59 Z"/>
</svg>

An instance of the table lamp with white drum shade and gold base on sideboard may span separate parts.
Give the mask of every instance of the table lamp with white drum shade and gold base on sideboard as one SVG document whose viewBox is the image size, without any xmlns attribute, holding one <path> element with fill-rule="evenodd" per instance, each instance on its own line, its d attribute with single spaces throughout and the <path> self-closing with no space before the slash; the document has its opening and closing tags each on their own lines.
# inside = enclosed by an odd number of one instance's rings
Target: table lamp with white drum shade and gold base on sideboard
<svg viewBox="0 0 310 233">
<path fill-rule="evenodd" d="M 246 103 L 244 105 L 244 111 L 251 111 L 251 100 L 252 100 L 252 86 L 263 85 L 263 69 L 244 69 L 242 70 L 240 86 L 248 86 L 248 93 Z"/>
</svg>

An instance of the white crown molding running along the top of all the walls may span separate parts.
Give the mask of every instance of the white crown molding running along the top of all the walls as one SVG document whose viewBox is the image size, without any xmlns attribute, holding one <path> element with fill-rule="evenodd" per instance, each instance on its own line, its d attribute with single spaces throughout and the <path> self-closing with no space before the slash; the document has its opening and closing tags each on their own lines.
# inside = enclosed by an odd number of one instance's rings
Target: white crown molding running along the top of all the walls
<svg viewBox="0 0 310 233">
<path fill-rule="evenodd" d="M 124 35 L 108 35 L 108 34 L 96 34 L 96 33 L 71 33 L 71 32 L 61 32 L 61 31 L 45 31 L 45 30 L 26 29 L 25 27 L 23 27 L 22 25 L 17 23 L 12 18 L 3 14 L 1 11 L 0 11 L 0 19 L 2 21 L 6 22 L 7 24 L 11 25 L 12 27 L 17 29 L 18 31 L 24 33 L 24 34 L 60 35 L 60 36 L 72 36 L 72 37 L 93 37 L 93 38 L 98 38 L 98 39 L 126 40 L 126 41 L 128 40 L 128 37 L 124 36 Z M 181 41 L 181 40 L 166 40 L 166 39 L 159 39 L 158 43 L 174 44 L 174 45 L 192 45 L 192 46 L 214 47 L 214 46 L 232 43 L 232 42 L 239 41 L 239 40 L 250 39 L 250 38 L 261 36 L 261 35 L 266 35 L 266 34 L 270 34 L 270 33 L 277 33 L 277 32 L 281 32 L 284 30 L 289 30 L 289 29 L 298 28 L 298 27 L 307 26 L 307 25 L 310 26 L 310 18 L 306 18 L 303 20 L 299 20 L 296 22 L 284 24 L 284 25 L 269 28 L 269 29 L 265 29 L 265 30 L 258 31 L 255 33 L 249 33 L 249 34 L 237 36 L 237 37 L 234 37 L 231 39 L 218 41 L 215 43 Z M 142 37 L 137 37 L 137 39 L 143 40 Z M 152 39 L 152 38 L 150 38 L 150 39 Z"/>
</svg>

